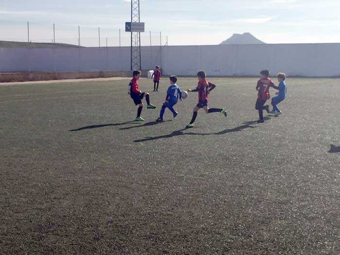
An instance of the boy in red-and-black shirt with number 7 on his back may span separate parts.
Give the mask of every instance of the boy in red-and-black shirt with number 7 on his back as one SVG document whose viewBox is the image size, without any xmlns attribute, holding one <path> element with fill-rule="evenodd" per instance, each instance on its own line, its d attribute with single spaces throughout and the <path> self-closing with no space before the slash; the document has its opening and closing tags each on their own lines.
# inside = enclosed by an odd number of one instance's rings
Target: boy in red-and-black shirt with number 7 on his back
<svg viewBox="0 0 340 255">
<path fill-rule="evenodd" d="M 262 70 L 260 74 L 261 74 L 261 79 L 258 80 L 257 85 L 256 85 L 256 90 L 258 91 L 258 94 L 257 94 L 255 109 L 258 110 L 258 115 L 260 117 L 258 122 L 263 123 L 264 122 L 263 110 L 266 110 L 268 113 L 270 113 L 269 105 L 264 106 L 266 101 L 270 99 L 269 88 L 273 87 L 275 89 L 278 89 L 278 87 L 275 86 L 272 83 L 272 80 L 268 78 L 269 77 L 268 70 Z"/>
</svg>

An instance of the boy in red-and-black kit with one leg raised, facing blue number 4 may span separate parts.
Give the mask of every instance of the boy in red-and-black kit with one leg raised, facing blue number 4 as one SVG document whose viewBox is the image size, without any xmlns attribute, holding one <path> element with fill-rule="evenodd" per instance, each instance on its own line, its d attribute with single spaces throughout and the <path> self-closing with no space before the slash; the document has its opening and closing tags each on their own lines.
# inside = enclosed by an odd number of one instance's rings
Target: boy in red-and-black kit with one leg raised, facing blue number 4
<svg viewBox="0 0 340 255">
<path fill-rule="evenodd" d="M 155 109 L 156 106 L 150 103 L 150 95 L 149 93 L 144 93 L 138 89 L 138 80 L 140 78 L 141 71 L 134 71 L 133 76 L 134 78 L 131 80 L 129 84 L 129 91 L 128 93 L 130 94 L 131 98 L 134 100 L 136 105 L 139 105 L 138 110 L 137 110 L 137 118 L 136 121 L 143 121 L 144 119 L 140 117 L 140 114 L 142 113 L 143 110 L 143 103 L 142 99 L 145 97 L 146 102 L 148 103 L 148 109 Z"/>
</svg>

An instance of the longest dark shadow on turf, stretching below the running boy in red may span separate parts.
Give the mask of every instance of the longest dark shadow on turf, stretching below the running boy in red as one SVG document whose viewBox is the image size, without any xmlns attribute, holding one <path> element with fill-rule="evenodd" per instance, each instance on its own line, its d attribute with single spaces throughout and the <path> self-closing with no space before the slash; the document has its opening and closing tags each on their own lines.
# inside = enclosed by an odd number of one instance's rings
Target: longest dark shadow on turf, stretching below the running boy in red
<svg viewBox="0 0 340 255">
<path fill-rule="evenodd" d="M 154 137 L 150 137 L 149 136 L 149 137 L 145 137 L 144 139 L 135 140 L 134 142 L 146 142 L 146 141 L 153 141 L 153 140 L 157 140 L 157 139 L 170 138 L 170 137 L 173 137 L 173 136 L 184 136 L 184 135 L 189 135 L 189 136 L 224 135 L 224 134 L 227 134 L 227 133 L 239 132 L 239 131 L 242 131 L 242 130 L 247 129 L 247 128 L 256 128 L 256 127 L 254 127 L 254 126 L 252 126 L 250 124 L 245 124 L 245 125 L 242 125 L 242 126 L 239 126 L 239 127 L 236 127 L 236 128 L 225 129 L 225 130 L 223 130 L 221 132 L 215 132 L 215 133 L 193 133 L 193 132 L 185 133 L 184 131 L 185 130 L 189 130 L 189 129 L 183 128 L 181 130 L 174 131 L 174 132 L 172 132 L 169 135 L 154 136 Z"/>
</svg>

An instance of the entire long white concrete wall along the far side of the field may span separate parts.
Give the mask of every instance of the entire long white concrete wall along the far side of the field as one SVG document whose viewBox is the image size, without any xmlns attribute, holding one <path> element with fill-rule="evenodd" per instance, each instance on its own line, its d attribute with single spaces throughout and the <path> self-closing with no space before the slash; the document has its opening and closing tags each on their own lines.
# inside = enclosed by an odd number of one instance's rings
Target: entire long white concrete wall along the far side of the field
<svg viewBox="0 0 340 255">
<path fill-rule="evenodd" d="M 340 76 L 340 44 L 266 44 L 142 47 L 142 68 L 165 75 L 258 75 L 262 69 L 290 76 Z M 0 72 L 129 70 L 130 48 L 0 48 Z"/>
</svg>

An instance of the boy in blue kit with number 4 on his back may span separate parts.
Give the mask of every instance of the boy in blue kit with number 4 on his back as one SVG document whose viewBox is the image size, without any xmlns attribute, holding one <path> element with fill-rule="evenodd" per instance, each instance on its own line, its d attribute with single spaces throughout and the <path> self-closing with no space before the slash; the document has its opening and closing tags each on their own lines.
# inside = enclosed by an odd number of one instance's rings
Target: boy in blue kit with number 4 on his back
<svg viewBox="0 0 340 255">
<path fill-rule="evenodd" d="M 169 110 L 173 114 L 173 118 L 177 116 L 177 112 L 173 109 L 173 106 L 177 103 L 178 98 L 180 101 L 182 101 L 182 91 L 181 89 L 177 86 L 177 76 L 170 76 L 170 87 L 168 88 L 167 91 L 167 98 L 165 99 L 165 102 L 162 106 L 161 112 L 159 114 L 159 118 L 156 120 L 158 122 L 163 121 L 163 115 L 165 112 L 165 109 L 168 107 Z"/>
</svg>

